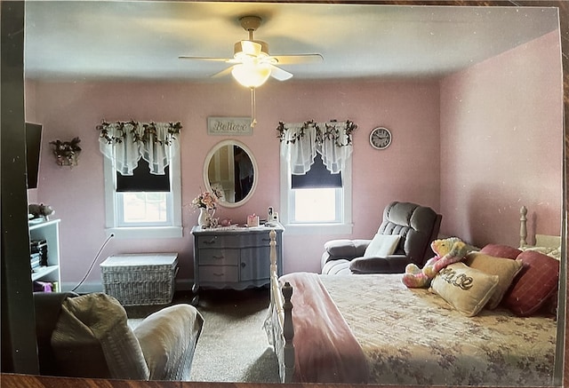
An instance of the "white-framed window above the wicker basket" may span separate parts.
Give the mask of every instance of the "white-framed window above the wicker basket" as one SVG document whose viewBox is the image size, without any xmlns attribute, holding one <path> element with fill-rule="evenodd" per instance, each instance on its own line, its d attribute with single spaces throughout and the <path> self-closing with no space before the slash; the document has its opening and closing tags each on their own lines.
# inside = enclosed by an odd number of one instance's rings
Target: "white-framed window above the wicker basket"
<svg viewBox="0 0 569 388">
<path fill-rule="evenodd" d="M 129 132 L 122 128 L 116 131 L 118 127 L 112 125 L 115 124 L 108 124 L 107 132 L 101 131 L 101 139 L 105 139 L 101 141 L 101 150 L 104 148 L 103 154 L 111 156 L 103 158 L 108 234 L 115 234 L 118 238 L 181 237 L 181 179 L 177 142 L 176 146 L 171 146 L 175 140 L 173 138 L 154 142 L 151 151 L 148 151 L 147 142 L 144 145 L 136 142 L 124 145 L 128 138 L 113 144 L 113 133 Z M 160 128 L 159 124 L 155 125 Z M 169 128 L 168 125 L 162 127 Z M 159 146 L 160 149 L 156 151 Z M 147 157 L 148 153 L 160 156 L 154 160 L 148 157 L 152 162 L 140 155 L 138 161 L 121 157 L 139 152 L 147 152 Z"/>
</svg>

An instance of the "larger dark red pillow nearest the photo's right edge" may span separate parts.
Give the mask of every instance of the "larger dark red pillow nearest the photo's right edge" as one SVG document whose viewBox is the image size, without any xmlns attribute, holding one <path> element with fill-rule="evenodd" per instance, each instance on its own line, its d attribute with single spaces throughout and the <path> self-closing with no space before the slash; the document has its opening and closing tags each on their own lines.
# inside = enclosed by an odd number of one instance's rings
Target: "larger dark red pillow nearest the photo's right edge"
<svg viewBox="0 0 569 388">
<path fill-rule="evenodd" d="M 521 260 L 524 267 L 502 299 L 502 305 L 525 317 L 538 311 L 557 291 L 559 262 L 533 250 L 522 252 L 517 260 Z"/>
</svg>

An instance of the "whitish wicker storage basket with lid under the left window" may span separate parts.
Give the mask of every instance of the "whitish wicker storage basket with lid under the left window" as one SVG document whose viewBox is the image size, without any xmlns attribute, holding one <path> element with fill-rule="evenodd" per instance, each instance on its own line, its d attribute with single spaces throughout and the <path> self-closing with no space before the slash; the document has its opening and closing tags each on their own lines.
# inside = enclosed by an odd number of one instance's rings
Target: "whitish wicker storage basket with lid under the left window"
<svg viewBox="0 0 569 388">
<path fill-rule="evenodd" d="M 100 264 L 103 291 L 121 305 L 165 305 L 172 302 L 177 253 L 127 254 Z"/>
</svg>

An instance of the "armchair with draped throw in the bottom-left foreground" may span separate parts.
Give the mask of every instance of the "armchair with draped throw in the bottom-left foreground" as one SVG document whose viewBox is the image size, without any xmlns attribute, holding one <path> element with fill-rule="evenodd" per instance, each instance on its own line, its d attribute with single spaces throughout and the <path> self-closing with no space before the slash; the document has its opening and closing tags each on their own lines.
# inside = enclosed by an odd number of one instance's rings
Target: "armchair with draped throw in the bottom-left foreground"
<svg viewBox="0 0 569 388">
<path fill-rule="evenodd" d="M 131 329 L 103 293 L 35 293 L 40 374 L 189 380 L 204 320 L 192 305 L 171 305 Z"/>
</svg>

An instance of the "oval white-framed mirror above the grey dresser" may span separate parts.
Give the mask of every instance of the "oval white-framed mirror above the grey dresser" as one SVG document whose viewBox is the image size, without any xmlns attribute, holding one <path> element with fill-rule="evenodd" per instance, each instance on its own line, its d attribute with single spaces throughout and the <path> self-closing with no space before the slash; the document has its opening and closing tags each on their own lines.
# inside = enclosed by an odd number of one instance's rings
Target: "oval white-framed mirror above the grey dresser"
<svg viewBox="0 0 569 388">
<path fill-rule="evenodd" d="M 247 146 L 233 139 L 223 140 L 205 157 L 205 188 L 220 194 L 221 206 L 235 208 L 251 198 L 257 171 L 257 162 Z"/>
</svg>

